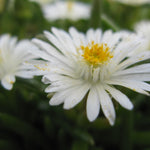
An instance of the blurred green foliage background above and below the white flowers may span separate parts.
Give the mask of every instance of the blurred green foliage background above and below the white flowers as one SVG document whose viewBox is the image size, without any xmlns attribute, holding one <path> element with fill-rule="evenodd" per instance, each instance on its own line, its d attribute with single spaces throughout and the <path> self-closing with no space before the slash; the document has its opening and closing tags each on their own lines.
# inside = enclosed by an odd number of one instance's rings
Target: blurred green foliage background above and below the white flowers
<svg viewBox="0 0 150 150">
<path fill-rule="evenodd" d="M 11 1 L 0 0 L 0 34 L 10 33 L 19 39 L 43 38 L 43 30 L 52 26 L 64 30 L 75 26 L 82 32 L 90 27 L 117 31 L 133 30 L 136 22 L 150 20 L 150 5 L 128 6 L 103 0 L 101 22 L 96 17 L 50 22 L 43 17 L 38 3 L 14 0 L 10 5 Z M 93 5 L 93 1 L 82 1 Z M 97 16 L 96 13 L 93 15 Z M 148 96 L 122 89 L 135 107 L 130 112 L 114 101 L 117 117 L 112 127 L 102 112 L 90 123 L 85 101 L 71 110 L 49 106 L 44 93 L 46 85 L 40 80 L 41 77 L 17 78 L 11 91 L 0 86 L 0 150 L 150 150 Z"/>
</svg>

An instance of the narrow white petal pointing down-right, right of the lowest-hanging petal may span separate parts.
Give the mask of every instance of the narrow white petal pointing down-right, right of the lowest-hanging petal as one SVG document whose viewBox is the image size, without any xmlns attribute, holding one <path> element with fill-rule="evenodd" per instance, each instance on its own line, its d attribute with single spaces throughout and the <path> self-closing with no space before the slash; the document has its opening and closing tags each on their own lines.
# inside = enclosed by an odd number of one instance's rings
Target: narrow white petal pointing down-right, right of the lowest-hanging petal
<svg viewBox="0 0 150 150">
<path fill-rule="evenodd" d="M 126 109 L 133 109 L 133 104 L 129 100 L 129 98 L 120 92 L 119 90 L 115 89 L 114 87 L 105 86 L 105 89 L 112 95 L 112 97 L 124 108 Z"/>
</svg>

